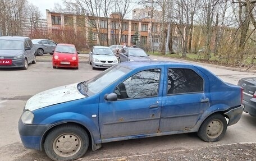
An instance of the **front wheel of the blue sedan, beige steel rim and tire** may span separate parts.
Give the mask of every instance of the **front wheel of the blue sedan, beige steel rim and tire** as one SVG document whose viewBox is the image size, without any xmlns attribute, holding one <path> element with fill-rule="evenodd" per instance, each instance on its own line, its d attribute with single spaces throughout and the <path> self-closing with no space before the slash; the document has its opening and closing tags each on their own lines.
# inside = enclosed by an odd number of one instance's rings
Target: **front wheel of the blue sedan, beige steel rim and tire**
<svg viewBox="0 0 256 161">
<path fill-rule="evenodd" d="M 77 125 L 61 125 L 54 128 L 44 142 L 45 153 L 52 160 L 67 161 L 81 158 L 88 146 L 87 132 Z"/>
</svg>

